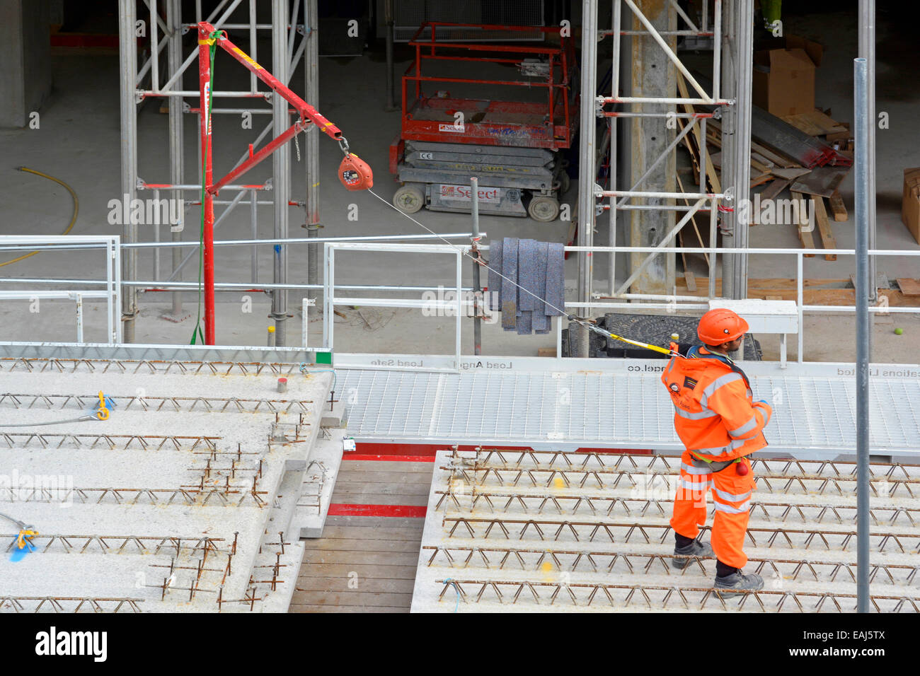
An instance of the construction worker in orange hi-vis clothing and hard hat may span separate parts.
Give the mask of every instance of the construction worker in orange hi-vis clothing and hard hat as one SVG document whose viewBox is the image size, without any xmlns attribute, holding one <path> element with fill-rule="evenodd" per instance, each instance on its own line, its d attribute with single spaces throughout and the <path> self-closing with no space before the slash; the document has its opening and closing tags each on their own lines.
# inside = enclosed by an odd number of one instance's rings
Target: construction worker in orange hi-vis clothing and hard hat
<svg viewBox="0 0 920 676">
<path fill-rule="evenodd" d="M 671 519 L 673 566 L 684 568 L 693 556 L 715 553 L 715 589 L 723 597 L 764 587 L 756 573 L 742 573 L 754 489 L 746 456 L 766 446 L 763 430 L 772 413 L 765 401 L 753 401 L 747 376 L 729 357 L 741 348 L 747 330 L 748 323 L 731 310 L 710 310 L 696 328 L 703 345 L 672 357 L 661 374 L 674 404 L 674 428 L 686 448 Z M 711 546 L 696 540 L 706 523 L 709 487 L 716 508 Z"/>
</svg>

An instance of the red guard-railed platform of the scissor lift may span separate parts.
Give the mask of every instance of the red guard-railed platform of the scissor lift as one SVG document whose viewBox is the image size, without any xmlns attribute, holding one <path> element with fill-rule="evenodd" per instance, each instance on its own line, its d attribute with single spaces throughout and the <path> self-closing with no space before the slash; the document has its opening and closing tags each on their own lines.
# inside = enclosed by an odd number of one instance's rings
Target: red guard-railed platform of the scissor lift
<svg viewBox="0 0 920 676">
<path fill-rule="evenodd" d="M 542 32 L 559 40 L 557 45 L 483 44 L 439 41 L 445 29 L 469 28 L 483 31 Z M 421 38 L 430 31 L 430 39 Z M 415 61 L 402 78 L 401 140 L 439 143 L 476 143 L 558 150 L 568 148 L 578 120 L 578 96 L 572 92 L 575 45 L 560 36 L 558 27 L 491 26 L 483 24 L 424 23 L 409 45 Z M 452 76 L 428 74 L 435 63 L 450 64 Z M 517 66 L 514 79 L 477 79 L 471 75 L 487 64 Z M 505 69 L 510 70 L 510 69 Z M 527 76 L 525 70 L 538 73 Z M 510 100 L 451 97 L 450 86 L 502 86 Z M 542 100 L 533 97 L 543 89 Z M 440 92 L 440 93 L 439 93 Z M 524 95 L 523 92 L 530 92 Z M 458 116 L 457 113 L 462 113 Z M 391 165 L 392 165 L 391 161 Z M 392 170 L 391 166 L 391 170 Z"/>
</svg>

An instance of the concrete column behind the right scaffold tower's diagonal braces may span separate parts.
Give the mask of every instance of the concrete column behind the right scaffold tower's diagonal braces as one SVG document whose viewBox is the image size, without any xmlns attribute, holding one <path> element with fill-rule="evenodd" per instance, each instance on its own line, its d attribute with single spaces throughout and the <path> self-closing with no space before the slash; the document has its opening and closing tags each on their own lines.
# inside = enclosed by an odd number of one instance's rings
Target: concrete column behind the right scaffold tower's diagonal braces
<svg viewBox="0 0 920 676">
<path fill-rule="evenodd" d="M 636 5 L 649 22 L 658 30 L 676 30 L 677 13 L 673 6 L 660 0 L 639 0 Z M 631 18 L 631 21 L 629 20 Z M 634 30 L 644 30 L 638 17 L 631 11 L 624 10 L 624 25 Z M 676 52 L 677 40 L 674 36 L 662 36 L 671 49 Z M 673 62 L 661 50 L 655 40 L 646 36 L 634 36 L 631 41 L 631 94 L 633 97 L 674 97 L 677 91 L 677 69 Z M 641 112 L 673 111 L 673 104 L 633 105 L 632 109 Z M 676 130 L 668 128 L 666 118 L 627 118 L 625 126 L 629 127 L 632 153 L 629 162 L 629 185 L 641 177 L 673 141 Z M 638 190 L 656 192 L 676 191 L 676 158 L 672 152 L 661 162 L 655 171 L 646 178 Z M 673 204 L 673 200 L 655 198 L 631 201 L 645 204 Z M 656 246 L 674 226 L 673 211 L 631 211 L 629 214 L 630 246 Z M 627 216 L 623 216 L 627 220 Z M 630 271 L 638 268 L 648 254 L 635 253 L 629 256 Z M 630 287 L 633 293 L 671 293 L 674 285 L 674 254 L 656 256 Z"/>
</svg>

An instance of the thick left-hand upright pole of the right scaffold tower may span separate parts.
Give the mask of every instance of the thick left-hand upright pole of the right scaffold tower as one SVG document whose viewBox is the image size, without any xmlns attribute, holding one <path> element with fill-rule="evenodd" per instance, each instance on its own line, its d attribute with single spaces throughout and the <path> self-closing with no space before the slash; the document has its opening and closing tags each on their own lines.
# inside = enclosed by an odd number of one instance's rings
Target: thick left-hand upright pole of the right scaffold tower
<svg viewBox="0 0 920 676">
<path fill-rule="evenodd" d="M 593 246 L 594 239 L 594 166 L 597 127 L 595 98 L 597 96 L 597 0 L 581 2 L 581 143 L 579 145 L 578 182 L 578 244 Z M 592 254 L 580 251 L 578 254 L 578 300 L 591 302 Z M 585 307 L 584 314 L 590 315 L 591 308 Z M 569 330 L 571 325 L 569 325 Z M 588 356 L 588 331 L 578 325 L 576 357 Z"/>
</svg>

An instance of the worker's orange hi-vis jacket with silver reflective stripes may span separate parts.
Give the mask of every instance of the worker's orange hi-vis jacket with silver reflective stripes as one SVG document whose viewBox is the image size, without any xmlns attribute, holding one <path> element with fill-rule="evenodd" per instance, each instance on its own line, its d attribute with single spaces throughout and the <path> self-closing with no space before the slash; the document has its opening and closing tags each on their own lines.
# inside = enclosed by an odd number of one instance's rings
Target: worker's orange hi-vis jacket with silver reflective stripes
<svg viewBox="0 0 920 676">
<path fill-rule="evenodd" d="M 672 349 L 677 346 L 672 343 Z M 674 404 L 674 430 L 687 451 L 726 462 L 766 446 L 772 409 L 753 402 L 747 376 L 727 357 L 694 347 L 672 357 L 661 374 Z"/>
</svg>

